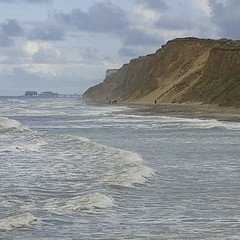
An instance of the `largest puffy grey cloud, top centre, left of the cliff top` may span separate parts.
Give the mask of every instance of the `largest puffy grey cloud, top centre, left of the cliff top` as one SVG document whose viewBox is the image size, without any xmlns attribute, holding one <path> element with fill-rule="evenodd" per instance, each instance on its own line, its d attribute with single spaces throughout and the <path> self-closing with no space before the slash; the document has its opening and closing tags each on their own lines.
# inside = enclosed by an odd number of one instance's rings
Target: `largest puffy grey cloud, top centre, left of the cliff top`
<svg viewBox="0 0 240 240">
<path fill-rule="evenodd" d="M 73 9 L 71 13 L 57 13 L 60 22 L 79 30 L 100 33 L 122 33 L 128 26 L 125 12 L 110 3 L 97 3 L 88 12 Z"/>
</svg>

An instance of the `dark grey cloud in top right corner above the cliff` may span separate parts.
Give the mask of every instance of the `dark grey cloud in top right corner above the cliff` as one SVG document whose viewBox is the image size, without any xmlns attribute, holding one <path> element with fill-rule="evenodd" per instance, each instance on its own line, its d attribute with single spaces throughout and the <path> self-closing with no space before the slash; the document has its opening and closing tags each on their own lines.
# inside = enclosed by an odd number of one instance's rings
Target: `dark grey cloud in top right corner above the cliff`
<svg viewBox="0 0 240 240">
<path fill-rule="evenodd" d="M 221 3 L 210 0 L 212 21 L 217 25 L 221 37 L 240 39 L 240 1 L 228 0 Z"/>
</svg>

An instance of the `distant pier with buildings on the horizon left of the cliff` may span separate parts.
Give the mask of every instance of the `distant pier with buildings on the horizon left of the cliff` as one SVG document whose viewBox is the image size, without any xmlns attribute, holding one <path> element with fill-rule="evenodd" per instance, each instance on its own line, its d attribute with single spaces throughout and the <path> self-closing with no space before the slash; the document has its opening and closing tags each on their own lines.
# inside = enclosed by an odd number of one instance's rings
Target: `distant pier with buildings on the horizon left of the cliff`
<svg viewBox="0 0 240 240">
<path fill-rule="evenodd" d="M 25 91 L 24 97 L 26 98 L 81 98 L 80 94 L 62 94 L 54 92 L 42 92 L 37 93 L 36 91 Z"/>
</svg>

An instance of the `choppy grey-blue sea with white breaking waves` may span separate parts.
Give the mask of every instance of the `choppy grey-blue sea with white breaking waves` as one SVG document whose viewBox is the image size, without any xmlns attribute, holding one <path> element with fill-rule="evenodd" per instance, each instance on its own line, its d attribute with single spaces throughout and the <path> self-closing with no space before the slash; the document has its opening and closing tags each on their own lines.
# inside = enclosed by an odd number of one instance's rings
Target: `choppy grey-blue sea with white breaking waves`
<svg viewBox="0 0 240 240">
<path fill-rule="evenodd" d="M 0 98 L 0 239 L 240 239 L 240 122 Z"/>
</svg>

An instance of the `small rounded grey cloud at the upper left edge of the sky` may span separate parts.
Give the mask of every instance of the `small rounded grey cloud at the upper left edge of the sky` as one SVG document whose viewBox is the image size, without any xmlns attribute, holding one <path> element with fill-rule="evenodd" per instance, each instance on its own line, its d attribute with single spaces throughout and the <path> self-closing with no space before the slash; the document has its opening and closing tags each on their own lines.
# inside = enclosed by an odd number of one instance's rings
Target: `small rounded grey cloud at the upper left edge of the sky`
<svg viewBox="0 0 240 240">
<path fill-rule="evenodd" d="M 1 31 L 8 37 L 20 36 L 23 33 L 23 29 L 17 20 L 14 19 L 9 19 L 5 23 L 2 23 Z"/>
</svg>

